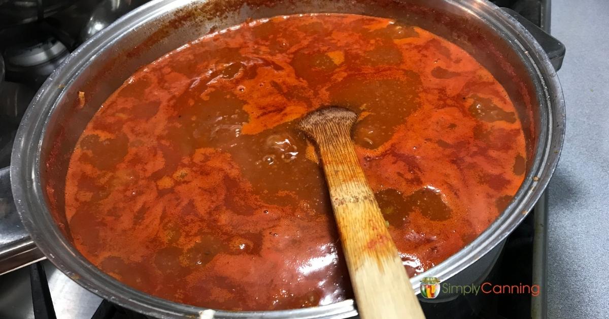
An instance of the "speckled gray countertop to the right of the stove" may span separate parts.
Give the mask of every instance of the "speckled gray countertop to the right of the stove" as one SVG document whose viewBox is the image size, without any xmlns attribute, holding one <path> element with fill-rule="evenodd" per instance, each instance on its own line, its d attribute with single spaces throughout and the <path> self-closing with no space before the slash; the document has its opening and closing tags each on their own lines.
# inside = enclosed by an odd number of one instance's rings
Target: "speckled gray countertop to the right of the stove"
<svg viewBox="0 0 609 319">
<path fill-rule="evenodd" d="M 609 318 L 609 1 L 552 1 L 565 146 L 549 185 L 548 318 Z"/>
</svg>

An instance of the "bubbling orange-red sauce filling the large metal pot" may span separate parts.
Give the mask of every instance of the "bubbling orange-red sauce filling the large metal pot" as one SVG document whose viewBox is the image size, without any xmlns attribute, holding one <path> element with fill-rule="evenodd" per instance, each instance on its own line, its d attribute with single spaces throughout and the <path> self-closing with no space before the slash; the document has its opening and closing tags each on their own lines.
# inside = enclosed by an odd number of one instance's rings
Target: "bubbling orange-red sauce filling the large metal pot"
<svg viewBox="0 0 609 319">
<path fill-rule="evenodd" d="M 233 310 L 351 296 L 315 150 L 322 106 L 353 138 L 406 271 L 459 251 L 523 181 L 504 88 L 449 41 L 383 18 L 252 21 L 133 74 L 90 121 L 66 177 L 79 251 L 127 285 Z"/>
</svg>

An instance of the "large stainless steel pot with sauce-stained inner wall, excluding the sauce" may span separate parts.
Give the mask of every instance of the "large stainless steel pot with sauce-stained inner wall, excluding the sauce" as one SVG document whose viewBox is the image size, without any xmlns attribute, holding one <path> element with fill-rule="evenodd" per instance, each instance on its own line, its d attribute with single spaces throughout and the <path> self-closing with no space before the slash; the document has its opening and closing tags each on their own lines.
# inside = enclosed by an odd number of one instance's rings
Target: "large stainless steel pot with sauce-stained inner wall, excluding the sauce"
<svg viewBox="0 0 609 319">
<path fill-rule="evenodd" d="M 81 256 L 72 245 L 63 213 L 67 165 L 80 133 L 100 104 L 139 66 L 212 29 L 247 18 L 308 12 L 359 13 L 417 24 L 462 46 L 504 85 L 524 126 L 526 179 L 485 232 L 411 283 L 418 292 L 426 276 L 446 280 L 459 274 L 455 278 L 463 281 L 466 267 L 478 260 L 492 263 L 498 252 L 493 248 L 523 220 L 556 167 L 565 106 L 558 77 L 539 43 L 512 15 L 483 0 L 157 0 L 139 7 L 73 52 L 38 91 L 19 127 L 12 155 L 13 196 L 23 224 L 46 257 L 86 289 L 154 317 L 343 318 L 356 314 L 353 300 L 297 310 L 226 312 L 147 295 L 104 274 Z M 85 107 L 80 107 L 79 91 L 85 93 Z M 487 254 L 490 251 L 494 253 Z M 468 269 L 473 278 L 482 276 L 485 267 Z"/>
</svg>

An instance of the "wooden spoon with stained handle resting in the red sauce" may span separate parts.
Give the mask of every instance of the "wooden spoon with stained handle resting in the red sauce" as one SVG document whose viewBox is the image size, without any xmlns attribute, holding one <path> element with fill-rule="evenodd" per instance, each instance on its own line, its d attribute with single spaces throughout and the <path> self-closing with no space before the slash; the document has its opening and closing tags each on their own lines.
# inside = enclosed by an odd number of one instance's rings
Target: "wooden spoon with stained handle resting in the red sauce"
<svg viewBox="0 0 609 319">
<path fill-rule="evenodd" d="M 356 113 L 327 107 L 298 129 L 317 143 L 361 318 L 425 318 L 351 143 Z"/>
</svg>

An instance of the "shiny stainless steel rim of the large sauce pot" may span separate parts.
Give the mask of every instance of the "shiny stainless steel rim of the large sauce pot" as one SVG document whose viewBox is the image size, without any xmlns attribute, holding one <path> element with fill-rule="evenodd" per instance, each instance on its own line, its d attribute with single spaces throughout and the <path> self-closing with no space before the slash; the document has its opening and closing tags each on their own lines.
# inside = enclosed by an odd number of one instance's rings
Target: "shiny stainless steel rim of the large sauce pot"
<svg viewBox="0 0 609 319">
<path fill-rule="evenodd" d="M 207 1 L 207 0 L 203 0 Z M 502 242 L 526 217 L 554 172 L 565 136 L 565 102 L 557 74 L 547 55 L 528 30 L 511 15 L 486 0 L 443 0 L 485 21 L 512 46 L 527 65 L 540 101 L 540 130 L 532 168 L 504 212 L 473 242 L 437 266 L 410 278 L 415 293 L 424 277 L 443 280 L 459 273 Z M 122 16 L 83 43 L 44 82 L 19 126 L 11 158 L 11 182 L 21 220 L 44 255 L 69 278 L 108 301 L 158 318 L 346 318 L 357 314 L 353 299 L 326 306 L 290 310 L 232 312 L 188 306 L 161 299 L 122 284 L 88 262 L 63 236 L 51 217 L 41 185 L 43 137 L 52 112 L 67 87 L 88 62 L 111 44 L 114 35 L 128 32 L 164 12 L 186 7 L 190 0 L 153 0 Z M 537 177 L 537 178 L 533 178 Z M 40 231 L 45 228 L 44 231 Z"/>
</svg>

